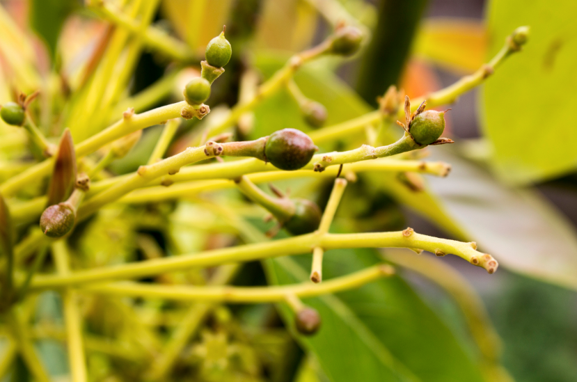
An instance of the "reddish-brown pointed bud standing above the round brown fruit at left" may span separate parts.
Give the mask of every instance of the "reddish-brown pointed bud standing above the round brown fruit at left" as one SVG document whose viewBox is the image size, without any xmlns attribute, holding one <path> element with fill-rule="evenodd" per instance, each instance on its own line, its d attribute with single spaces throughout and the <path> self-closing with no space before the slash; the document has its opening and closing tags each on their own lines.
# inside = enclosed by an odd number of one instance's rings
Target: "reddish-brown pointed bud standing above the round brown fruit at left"
<svg viewBox="0 0 577 382">
<path fill-rule="evenodd" d="M 54 161 L 52 179 L 48 187 L 48 204 L 56 205 L 66 200 L 76 182 L 76 152 L 70 130 L 65 129 L 58 145 L 58 154 Z"/>
</svg>

